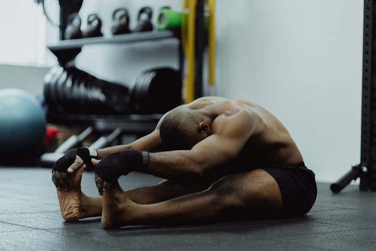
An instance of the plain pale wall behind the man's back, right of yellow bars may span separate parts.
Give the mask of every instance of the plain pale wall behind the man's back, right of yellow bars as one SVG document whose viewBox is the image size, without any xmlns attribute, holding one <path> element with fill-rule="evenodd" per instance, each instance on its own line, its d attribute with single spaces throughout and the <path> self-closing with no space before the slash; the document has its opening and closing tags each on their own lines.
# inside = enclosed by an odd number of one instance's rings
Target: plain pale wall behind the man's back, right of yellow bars
<svg viewBox="0 0 376 251">
<path fill-rule="evenodd" d="M 216 1 L 219 95 L 274 113 L 320 181 L 360 161 L 362 2 Z"/>
</svg>

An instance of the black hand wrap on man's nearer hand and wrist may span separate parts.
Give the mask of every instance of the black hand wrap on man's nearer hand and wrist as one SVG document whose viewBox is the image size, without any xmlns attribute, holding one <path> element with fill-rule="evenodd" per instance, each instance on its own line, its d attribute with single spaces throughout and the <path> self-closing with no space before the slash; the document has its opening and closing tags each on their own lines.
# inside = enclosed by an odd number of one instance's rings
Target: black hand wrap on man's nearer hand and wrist
<svg viewBox="0 0 376 251">
<path fill-rule="evenodd" d="M 148 152 L 123 150 L 103 158 L 95 167 L 95 174 L 104 181 L 112 182 L 130 171 L 146 172 L 149 162 Z"/>
</svg>

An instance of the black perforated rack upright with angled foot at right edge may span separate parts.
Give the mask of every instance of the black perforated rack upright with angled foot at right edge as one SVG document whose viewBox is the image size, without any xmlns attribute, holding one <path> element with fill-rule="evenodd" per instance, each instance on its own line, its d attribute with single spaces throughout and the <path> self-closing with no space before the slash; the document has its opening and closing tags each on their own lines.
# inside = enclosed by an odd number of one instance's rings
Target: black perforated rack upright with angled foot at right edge
<svg viewBox="0 0 376 251">
<path fill-rule="evenodd" d="M 376 0 L 364 0 L 360 164 L 331 184 L 334 193 L 360 177 L 361 191 L 376 191 Z"/>
</svg>

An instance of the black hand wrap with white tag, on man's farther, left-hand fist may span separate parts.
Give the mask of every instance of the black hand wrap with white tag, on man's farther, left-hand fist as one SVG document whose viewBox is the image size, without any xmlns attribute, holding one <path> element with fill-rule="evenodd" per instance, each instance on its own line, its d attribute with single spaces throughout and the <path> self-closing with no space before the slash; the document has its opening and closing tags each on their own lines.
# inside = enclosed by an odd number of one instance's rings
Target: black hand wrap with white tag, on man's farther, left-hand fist
<svg viewBox="0 0 376 251">
<path fill-rule="evenodd" d="M 69 150 L 63 157 L 58 159 L 52 167 L 52 171 L 68 173 L 68 167 L 73 164 L 76 155 L 84 161 L 88 168 L 94 168 L 93 163 L 91 163 L 91 158 L 98 159 L 97 151 L 95 149 L 89 149 L 87 147 L 75 148 Z"/>
</svg>

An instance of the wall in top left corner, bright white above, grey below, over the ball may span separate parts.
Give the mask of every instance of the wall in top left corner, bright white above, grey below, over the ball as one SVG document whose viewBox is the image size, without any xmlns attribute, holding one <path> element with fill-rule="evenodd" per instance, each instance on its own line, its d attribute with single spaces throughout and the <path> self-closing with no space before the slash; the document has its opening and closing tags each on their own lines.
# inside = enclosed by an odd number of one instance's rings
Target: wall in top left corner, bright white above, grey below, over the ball
<svg viewBox="0 0 376 251">
<path fill-rule="evenodd" d="M 54 64 L 41 7 L 34 0 L 0 0 L 0 89 L 42 94 L 43 77 Z"/>
</svg>

